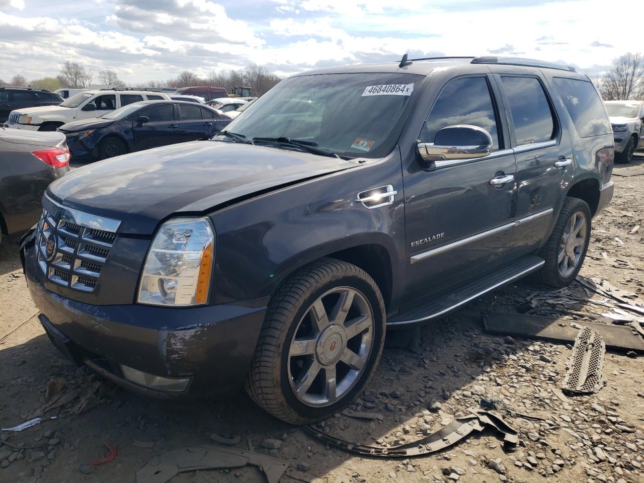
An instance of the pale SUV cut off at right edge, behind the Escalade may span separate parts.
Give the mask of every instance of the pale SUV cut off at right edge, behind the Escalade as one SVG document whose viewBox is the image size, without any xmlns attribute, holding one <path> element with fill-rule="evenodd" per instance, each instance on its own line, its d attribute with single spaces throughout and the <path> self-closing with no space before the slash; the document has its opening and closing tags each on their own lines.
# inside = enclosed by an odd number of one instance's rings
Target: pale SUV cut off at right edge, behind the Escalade
<svg viewBox="0 0 644 483">
<path fill-rule="evenodd" d="M 644 148 L 644 102 L 641 100 L 607 100 L 615 138 L 615 161 L 627 163 L 636 149 Z"/>
</svg>

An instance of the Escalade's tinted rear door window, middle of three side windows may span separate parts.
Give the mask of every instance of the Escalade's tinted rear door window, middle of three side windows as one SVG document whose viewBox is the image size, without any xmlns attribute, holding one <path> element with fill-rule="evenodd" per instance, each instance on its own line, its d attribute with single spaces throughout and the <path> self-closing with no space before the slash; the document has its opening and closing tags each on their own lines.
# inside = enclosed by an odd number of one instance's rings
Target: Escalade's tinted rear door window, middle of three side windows
<svg viewBox="0 0 644 483">
<path fill-rule="evenodd" d="M 550 140 L 554 133 L 553 113 L 541 82 L 535 77 L 502 76 L 515 126 L 517 146 Z"/>
</svg>

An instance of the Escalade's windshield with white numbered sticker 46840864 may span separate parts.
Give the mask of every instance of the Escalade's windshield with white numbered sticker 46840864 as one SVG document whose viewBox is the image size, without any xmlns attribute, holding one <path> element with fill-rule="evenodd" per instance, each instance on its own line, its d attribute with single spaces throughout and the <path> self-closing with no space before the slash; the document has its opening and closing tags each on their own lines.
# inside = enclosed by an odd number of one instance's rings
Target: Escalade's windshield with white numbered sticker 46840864
<svg viewBox="0 0 644 483">
<path fill-rule="evenodd" d="M 393 149 L 423 77 L 399 73 L 305 75 L 280 82 L 227 130 L 314 142 L 339 156 L 381 158 Z"/>
</svg>

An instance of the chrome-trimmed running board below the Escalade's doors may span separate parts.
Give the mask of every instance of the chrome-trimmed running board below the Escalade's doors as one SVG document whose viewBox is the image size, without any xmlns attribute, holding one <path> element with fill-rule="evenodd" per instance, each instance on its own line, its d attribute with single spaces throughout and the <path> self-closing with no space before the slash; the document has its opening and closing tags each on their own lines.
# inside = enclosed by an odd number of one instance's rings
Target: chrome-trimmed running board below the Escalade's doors
<svg viewBox="0 0 644 483">
<path fill-rule="evenodd" d="M 419 305 L 396 314 L 387 321 L 387 327 L 399 327 L 402 325 L 425 322 L 436 317 L 444 316 L 451 310 L 465 305 L 469 301 L 487 294 L 491 290 L 498 289 L 502 285 L 520 279 L 527 274 L 540 269 L 545 260 L 535 255 L 519 258 L 511 265 L 502 267 L 482 277 L 461 285 L 456 290 L 444 290 L 433 294 L 419 302 Z"/>
</svg>

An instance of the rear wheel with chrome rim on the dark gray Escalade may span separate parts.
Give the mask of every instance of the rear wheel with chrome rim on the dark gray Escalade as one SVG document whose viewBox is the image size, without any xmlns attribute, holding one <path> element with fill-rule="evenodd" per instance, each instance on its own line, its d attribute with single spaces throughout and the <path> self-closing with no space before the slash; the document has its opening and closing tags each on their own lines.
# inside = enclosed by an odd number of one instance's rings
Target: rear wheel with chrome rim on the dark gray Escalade
<svg viewBox="0 0 644 483">
<path fill-rule="evenodd" d="M 569 285 L 582 269 L 590 240 L 591 209 L 585 201 L 566 196 L 553 232 L 540 252 L 545 260 L 537 272 L 541 283 L 556 288 Z"/>
</svg>

